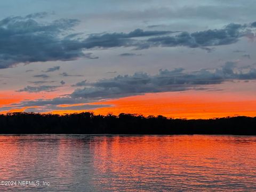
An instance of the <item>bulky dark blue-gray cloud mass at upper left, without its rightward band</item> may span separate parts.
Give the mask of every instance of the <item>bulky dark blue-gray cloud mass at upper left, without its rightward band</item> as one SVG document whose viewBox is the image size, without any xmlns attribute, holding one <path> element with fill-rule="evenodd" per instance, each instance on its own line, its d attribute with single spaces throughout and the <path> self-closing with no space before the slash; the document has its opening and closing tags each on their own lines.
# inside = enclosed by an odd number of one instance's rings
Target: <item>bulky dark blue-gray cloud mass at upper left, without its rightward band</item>
<svg viewBox="0 0 256 192">
<path fill-rule="evenodd" d="M 0 20 L 0 45 L 4 45 L 0 46 L 0 68 L 12 67 L 20 62 L 66 61 L 86 57 L 80 43 L 65 36 L 78 20 L 59 19 L 39 23 L 33 19 L 39 15 Z"/>
</svg>

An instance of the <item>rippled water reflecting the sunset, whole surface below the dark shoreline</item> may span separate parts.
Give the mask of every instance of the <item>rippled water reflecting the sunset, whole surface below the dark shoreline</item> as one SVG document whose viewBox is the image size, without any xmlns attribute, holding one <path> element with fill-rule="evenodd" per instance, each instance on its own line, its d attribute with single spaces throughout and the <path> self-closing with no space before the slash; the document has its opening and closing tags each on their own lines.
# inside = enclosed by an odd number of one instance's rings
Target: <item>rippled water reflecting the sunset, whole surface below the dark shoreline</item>
<svg viewBox="0 0 256 192">
<path fill-rule="evenodd" d="M 256 137 L 0 135 L 1 191 L 255 191 Z"/>
</svg>

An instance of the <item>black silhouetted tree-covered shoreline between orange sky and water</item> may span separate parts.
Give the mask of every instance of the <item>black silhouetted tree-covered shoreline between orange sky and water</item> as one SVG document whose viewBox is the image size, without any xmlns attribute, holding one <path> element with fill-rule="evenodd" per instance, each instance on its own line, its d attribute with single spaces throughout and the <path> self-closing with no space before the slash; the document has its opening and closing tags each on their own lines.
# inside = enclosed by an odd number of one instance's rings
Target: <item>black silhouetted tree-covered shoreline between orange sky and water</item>
<svg viewBox="0 0 256 192">
<path fill-rule="evenodd" d="M 0 115 L 0 134 L 101 134 L 101 135 L 256 135 L 256 117 L 172 119 L 163 116 L 119 114 Z"/>
</svg>

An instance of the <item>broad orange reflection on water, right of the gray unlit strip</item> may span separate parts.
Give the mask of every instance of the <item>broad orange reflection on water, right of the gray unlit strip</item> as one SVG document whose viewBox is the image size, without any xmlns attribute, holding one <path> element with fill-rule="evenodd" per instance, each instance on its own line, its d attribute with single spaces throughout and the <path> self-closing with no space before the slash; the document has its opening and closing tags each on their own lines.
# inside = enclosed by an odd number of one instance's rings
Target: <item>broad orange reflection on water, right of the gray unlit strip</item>
<svg viewBox="0 0 256 192">
<path fill-rule="evenodd" d="M 94 168 L 101 175 L 95 185 L 107 191 L 255 187 L 255 141 L 204 135 L 106 137 L 93 148 Z"/>
</svg>

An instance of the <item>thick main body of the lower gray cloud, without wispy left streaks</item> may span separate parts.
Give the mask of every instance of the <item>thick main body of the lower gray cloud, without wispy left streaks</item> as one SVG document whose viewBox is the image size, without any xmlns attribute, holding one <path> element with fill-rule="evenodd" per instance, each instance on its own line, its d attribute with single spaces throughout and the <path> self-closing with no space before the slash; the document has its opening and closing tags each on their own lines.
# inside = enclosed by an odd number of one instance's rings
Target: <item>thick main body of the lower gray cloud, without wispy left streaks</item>
<svg viewBox="0 0 256 192">
<path fill-rule="evenodd" d="M 227 62 L 225 66 L 214 70 L 201 69 L 185 73 L 184 69 L 159 70 L 157 75 L 135 73 L 134 75 L 118 75 L 114 78 L 101 79 L 94 83 L 85 83 L 83 89 L 76 89 L 71 97 L 86 99 L 119 98 L 151 92 L 185 91 L 207 89 L 206 85 L 220 84 L 234 79 L 256 79 L 256 69 L 236 68 L 236 63 Z"/>
</svg>

